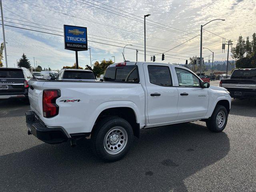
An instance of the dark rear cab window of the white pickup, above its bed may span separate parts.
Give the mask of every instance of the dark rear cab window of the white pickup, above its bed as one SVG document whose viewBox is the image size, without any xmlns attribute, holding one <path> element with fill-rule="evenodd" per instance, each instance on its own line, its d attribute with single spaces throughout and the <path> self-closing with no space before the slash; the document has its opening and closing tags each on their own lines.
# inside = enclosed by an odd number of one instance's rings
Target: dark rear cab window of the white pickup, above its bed
<svg viewBox="0 0 256 192">
<path fill-rule="evenodd" d="M 109 67 L 106 70 L 104 81 L 138 83 L 138 68 L 134 65 Z"/>
</svg>

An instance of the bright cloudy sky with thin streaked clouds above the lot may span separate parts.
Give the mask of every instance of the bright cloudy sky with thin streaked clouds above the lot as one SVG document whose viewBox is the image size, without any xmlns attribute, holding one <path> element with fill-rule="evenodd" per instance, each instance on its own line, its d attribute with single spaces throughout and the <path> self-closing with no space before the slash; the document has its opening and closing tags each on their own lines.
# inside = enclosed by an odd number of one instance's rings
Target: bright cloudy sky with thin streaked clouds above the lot
<svg viewBox="0 0 256 192">
<path fill-rule="evenodd" d="M 190 57 L 199 56 L 200 25 L 213 19 L 225 19 L 204 26 L 203 47 L 214 52 L 214 61 L 227 58 L 223 38 L 235 45 L 239 35 L 252 38 L 256 32 L 256 0 L 2 0 L 2 4 L 4 24 L 9 25 L 5 26 L 8 66 L 16 65 L 23 53 L 32 66 L 34 59 L 42 68 L 72 66 L 75 52 L 65 50 L 64 38 L 59 36 L 64 24 L 87 27 L 92 63 L 104 59 L 122 62 L 123 51 L 126 60 L 136 61 L 136 49 L 138 61 L 144 61 L 146 14 L 151 14 L 146 18 L 147 61 L 156 55 L 157 62 L 185 64 Z M 161 61 L 163 52 L 165 60 Z M 203 49 L 206 62 L 212 60 L 211 54 Z M 78 60 L 83 68 L 90 65 L 89 50 L 78 52 Z M 3 63 L 5 66 L 5 58 Z"/>
</svg>

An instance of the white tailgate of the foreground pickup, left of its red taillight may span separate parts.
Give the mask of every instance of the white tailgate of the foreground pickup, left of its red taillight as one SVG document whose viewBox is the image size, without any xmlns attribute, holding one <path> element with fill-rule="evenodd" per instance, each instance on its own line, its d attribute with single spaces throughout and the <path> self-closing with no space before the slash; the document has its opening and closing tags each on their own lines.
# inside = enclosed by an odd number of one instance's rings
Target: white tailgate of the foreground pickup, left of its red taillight
<svg viewBox="0 0 256 192">
<path fill-rule="evenodd" d="M 42 110 L 42 96 L 43 96 L 43 81 L 29 80 L 28 98 L 30 102 L 30 108 L 40 118 L 43 116 Z"/>
</svg>

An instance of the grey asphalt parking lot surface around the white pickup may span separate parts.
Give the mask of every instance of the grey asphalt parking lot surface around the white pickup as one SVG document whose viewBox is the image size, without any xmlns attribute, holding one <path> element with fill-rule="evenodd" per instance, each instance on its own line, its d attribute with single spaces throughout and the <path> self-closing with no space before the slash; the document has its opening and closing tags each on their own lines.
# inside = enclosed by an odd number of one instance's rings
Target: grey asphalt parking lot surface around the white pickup
<svg viewBox="0 0 256 192">
<path fill-rule="evenodd" d="M 102 162 L 89 140 L 45 144 L 27 134 L 28 104 L 0 102 L 0 191 L 256 191 L 256 105 L 232 100 L 221 133 L 204 122 L 141 131 L 128 155 Z"/>
</svg>

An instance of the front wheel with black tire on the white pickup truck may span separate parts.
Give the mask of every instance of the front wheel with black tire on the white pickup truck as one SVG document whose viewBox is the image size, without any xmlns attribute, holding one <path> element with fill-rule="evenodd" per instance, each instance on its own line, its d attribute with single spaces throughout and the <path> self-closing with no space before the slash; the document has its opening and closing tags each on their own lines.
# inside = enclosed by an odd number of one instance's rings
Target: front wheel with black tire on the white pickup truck
<svg viewBox="0 0 256 192">
<path fill-rule="evenodd" d="M 206 120 L 206 126 L 212 132 L 222 132 L 226 127 L 227 121 L 228 112 L 226 108 L 222 105 L 216 105 L 212 116 L 208 120 Z"/>
</svg>

